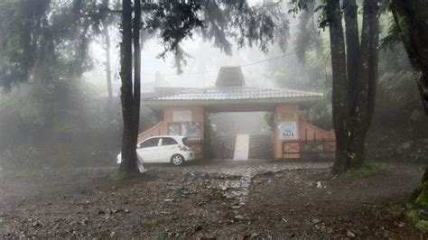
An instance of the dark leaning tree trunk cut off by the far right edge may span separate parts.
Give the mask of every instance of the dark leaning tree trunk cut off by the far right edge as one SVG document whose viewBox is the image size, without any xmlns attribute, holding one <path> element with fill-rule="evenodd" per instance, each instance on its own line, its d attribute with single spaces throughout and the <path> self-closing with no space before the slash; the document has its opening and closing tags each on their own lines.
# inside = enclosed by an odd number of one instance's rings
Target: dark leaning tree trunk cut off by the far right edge
<svg viewBox="0 0 428 240">
<path fill-rule="evenodd" d="M 405 51 L 415 71 L 425 113 L 428 114 L 428 16 L 427 3 L 424 0 L 393 0 L 391 10 L 394 14 Z M 415 203 L 428 208 L 428 167 L 425 168 L 421 188 L 416 192 Z"/>
</svg>

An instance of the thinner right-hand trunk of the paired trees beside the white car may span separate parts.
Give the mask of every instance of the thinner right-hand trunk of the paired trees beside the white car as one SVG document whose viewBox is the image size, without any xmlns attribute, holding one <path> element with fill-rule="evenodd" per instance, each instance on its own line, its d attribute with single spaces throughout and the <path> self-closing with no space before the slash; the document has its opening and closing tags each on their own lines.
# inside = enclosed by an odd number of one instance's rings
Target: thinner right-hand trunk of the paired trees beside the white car
<svg viewBox="0 0 428 240">
<path fill-rule="evenodd" d="M 138 139 L 141 100 L 141 51 L 140 51 L 141 0 L 135 0 L 133 40 L 134 40 L 134 98 L 133 98 L 133 141 Z"/>
</svg>

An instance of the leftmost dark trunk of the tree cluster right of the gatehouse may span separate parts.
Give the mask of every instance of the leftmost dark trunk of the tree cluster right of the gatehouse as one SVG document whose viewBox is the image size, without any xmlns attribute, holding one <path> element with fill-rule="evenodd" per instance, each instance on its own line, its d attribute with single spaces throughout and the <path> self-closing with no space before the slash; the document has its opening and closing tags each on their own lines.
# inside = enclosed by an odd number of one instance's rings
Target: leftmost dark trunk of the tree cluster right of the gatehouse
<svg viewBox="0 0 428 240">
<path fill-rule="evenodd" d="M 340 0 L 327 1 L 327 18 L 330 29 L 333 90 L 331 96 L 333 125 L 336 134 L 336 160 L 331 171 L 339 174 L 349 167 L 348 152 L 348 79 L 346 71 L 345 40 L 340 14 Z"/>
</svg>

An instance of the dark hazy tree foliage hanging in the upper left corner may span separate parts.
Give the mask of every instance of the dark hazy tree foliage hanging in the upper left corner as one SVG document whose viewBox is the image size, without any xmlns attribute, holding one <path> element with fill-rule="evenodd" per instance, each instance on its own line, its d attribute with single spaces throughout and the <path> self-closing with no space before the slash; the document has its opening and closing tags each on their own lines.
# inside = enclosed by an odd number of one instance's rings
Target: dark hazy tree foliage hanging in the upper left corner
<svg viewBox="0 0 428 240">
<path fill-rule="evenodd" d="M 92 68 L 91 38 L 105 14 L 98 1 L 0 0 L 0 88 L 73 78 Z"/>
</svg>

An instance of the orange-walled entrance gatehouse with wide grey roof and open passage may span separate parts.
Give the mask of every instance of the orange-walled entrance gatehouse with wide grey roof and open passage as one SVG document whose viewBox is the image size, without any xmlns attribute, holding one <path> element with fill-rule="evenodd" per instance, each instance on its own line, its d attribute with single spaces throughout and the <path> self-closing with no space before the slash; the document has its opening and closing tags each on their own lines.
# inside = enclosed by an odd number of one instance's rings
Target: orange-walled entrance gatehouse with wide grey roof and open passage
<svg viewBox="0 0 428 240">
<path fill-rule="evenodd" d="M 146 106 L 163 113 L 163 121 L 138 137 L 142 141 L 154 135 L 185 135 L 197 157 L 209 158 L 209 113 L 272 112 L 274 159 L 331 153 L 335 150 L 334 133 L 309 124 L 299 114 L 321 97 L 321 93 L 308 91 L 247 87 L 239 67 L 222 67 L 215 87 L 144 99 Z"/>
</svg>

